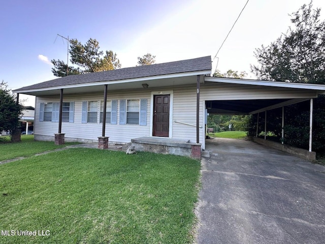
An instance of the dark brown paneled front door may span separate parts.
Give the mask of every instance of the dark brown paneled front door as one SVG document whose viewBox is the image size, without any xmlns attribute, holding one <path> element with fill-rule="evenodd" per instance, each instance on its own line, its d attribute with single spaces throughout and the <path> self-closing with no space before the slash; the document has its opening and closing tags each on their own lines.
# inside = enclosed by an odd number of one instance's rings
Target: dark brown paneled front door
<svg viewBox="0 0 325 244">
<path fill-rule="evenodd" d="M 153 136 L 169 137 L 170 95 L 153 97 Z"/>
</svg>

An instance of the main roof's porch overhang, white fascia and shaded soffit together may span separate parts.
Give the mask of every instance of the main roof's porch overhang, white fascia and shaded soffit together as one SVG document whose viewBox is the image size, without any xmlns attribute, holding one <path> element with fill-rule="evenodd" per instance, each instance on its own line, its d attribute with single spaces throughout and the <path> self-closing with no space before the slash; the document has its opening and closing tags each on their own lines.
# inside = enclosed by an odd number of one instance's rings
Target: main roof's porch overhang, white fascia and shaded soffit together
<svg viewBox="0 0 325 244">
<path fill-rule="evenodd" d="M 109 90 L 120 90 L 120 89 L 141 89 L 142 84 L 148 84 L 148 87 L 163 87 L 173 85 L 185 85 L 185 84 L 196 84 L 197 76 L 202 75 L 200 80 L 204 82 L 203 75 L 210 74 L 211 70 L 204 70 L 198 72 L 178 73 L 169 75 L 159 75 L 142 77 L 135 79 L 124 79 L 114 81 L 101 81 L 101 82 L 90 82 L 74 85 L 62 85 L 39 89 L 26 89 L 26 90 L 13 90 L 14 93 L 26 94 L 32 96 L 53 96 L 59 95 L 60 89 L 64 89 L 64 94 L 79 94 L 79 93 L 95 93 L 102 92 L 104 85 L 108 85 Z"/>
</svg>

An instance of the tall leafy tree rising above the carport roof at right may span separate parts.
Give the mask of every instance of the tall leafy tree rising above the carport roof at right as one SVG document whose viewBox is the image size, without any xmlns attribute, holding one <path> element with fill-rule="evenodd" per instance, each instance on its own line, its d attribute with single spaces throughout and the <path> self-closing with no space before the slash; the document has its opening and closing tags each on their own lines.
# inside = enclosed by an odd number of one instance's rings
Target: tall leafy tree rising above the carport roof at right
<svg viewBox="0 0 325 244">
<path fill-rule="evenodd" d="M 292 27 L 269 46 L 254 52 L 259 65 L 251 71 L 259 79 L 325 83 L 325 21 L 312 2 L 290 15 Z"/>
</svg>

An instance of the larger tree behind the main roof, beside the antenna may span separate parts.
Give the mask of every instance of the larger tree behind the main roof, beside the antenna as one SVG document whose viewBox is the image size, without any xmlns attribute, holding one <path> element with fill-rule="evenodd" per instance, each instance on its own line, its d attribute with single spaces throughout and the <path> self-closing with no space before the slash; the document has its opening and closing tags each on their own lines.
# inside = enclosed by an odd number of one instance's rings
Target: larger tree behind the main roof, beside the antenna
<svg viewBox="0 0 325 244">
<path fill-rule="evenodd" d="M 116 53 L 112 50 L 100 50 L 99 42 L 96 39 L 89 39 L 85 45 L 78 42 L 77 39 L 70 40 L 70 62 L 69 75 L 84 74 L 90 72 L 99 72 L 121 68 Z M 52 72 L 55 76 L 67 76 L 67 64 L 62 60 L 52 59 L 54 65 Z"/>
</svg>

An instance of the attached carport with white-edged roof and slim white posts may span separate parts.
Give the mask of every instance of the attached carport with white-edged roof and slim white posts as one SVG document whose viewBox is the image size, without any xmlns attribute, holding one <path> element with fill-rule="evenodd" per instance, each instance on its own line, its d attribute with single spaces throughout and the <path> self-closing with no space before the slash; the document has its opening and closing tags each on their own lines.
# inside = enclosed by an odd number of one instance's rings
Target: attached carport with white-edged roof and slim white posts
<svg viewBox="0 0 325 244">
<path fill-rule="evenodd" d="M 321 94 L 325 94 L 325 85 L 205 76 L 204 85 L 200 90 L 200 100 L 206 112 L 204 124 L 207 124 L 208 113 L 248 115 L 265 112 L 265 131 L 267 131 L 268 110 L 282 107 L 283 128 L 284 107 L 309 100 L 309 151 L 311 152 L 313 99 Z M 202 131 L 205 138 L 205 130 Z M 282 129 L 282 137 L 283 133 Z M 256 137 L 257 134 L 258 131 Z M 266 140 L 266 136 L 264 139 Z M 203 148 L 205 149 L 205 141 Z"/>
</svg>

